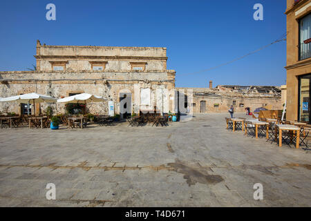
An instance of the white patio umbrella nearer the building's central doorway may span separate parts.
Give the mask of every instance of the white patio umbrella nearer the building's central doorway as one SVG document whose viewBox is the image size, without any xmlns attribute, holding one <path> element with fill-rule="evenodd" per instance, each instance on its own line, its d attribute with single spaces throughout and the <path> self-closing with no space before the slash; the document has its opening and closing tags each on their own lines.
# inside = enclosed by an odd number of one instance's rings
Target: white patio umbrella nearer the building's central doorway
<svg viewBox="0 0 311 221">
<path fill-rule="evenodd" d="M 73 95 L 70 97 L 64 97 L 62 99 L 58 99 L 57 103 L 64 103 L 64 104 L 88 104 L 91 102 L 104 102 L 106 98 L 90 95 L 87 93 L 82 93 L 79 95 Z"/>
</svg>

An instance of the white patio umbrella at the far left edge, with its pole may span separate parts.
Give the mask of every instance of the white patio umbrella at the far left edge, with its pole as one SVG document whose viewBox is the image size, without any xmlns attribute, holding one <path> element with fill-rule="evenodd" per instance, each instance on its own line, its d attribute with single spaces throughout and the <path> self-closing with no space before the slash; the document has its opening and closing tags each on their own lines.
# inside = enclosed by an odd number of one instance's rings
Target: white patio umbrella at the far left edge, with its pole
<svg viewBox="0 0 311 221">
<path fill-rule="evenodd" d="M 57 99 L 54 97 L 50 97 L 48 95 L 40 95 L 37 93 L 28 93 L 24 95 L 17 95 L 13 97 L 3 97 L 0 99 L 0 102 L 18 102 L 18 103 L 28 103 L 33 104 L 35 110 L 35 104 L 40 104 L 43 102 L 56 102 Z"/>
</svg>

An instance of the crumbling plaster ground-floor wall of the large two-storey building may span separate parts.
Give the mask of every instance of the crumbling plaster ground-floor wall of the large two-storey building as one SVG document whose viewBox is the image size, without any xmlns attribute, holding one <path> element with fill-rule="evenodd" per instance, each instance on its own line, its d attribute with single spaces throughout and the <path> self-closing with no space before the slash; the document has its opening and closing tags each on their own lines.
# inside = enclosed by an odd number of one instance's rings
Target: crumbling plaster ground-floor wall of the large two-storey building
<svg viewBox="0 0 311 221">
<path fill-rule="evenodd" d="M 10 97 L 23 93 L 39 93 L 50 95 L 56 98 L 67 97 L 69 93 L 90 93 L 103 96 L 106 102 L 88 104 L 87 108 L 93 114 L 107 114 L 108 101 L 115 104 L 115 114 L 120 111 L 119 94 L 122 90 L 129 90 L 132 93 L 132 112 L 139 113 L 140 106 L 135 103 L 135 85 L 141 88 L 173 88 L 174 82 L 168 81 L 167 73 L 70 73 L 70 72 L 3 72 L 0 79 L 8 79 L 0 84 L 0 97 Z M 138 95 L 139 97 L 139 95 Z M 167 99 L 167 97 L 164 97 Z M 151 106 L 153 107 L 154 104 Z M 55 113 L 64 113 L 64 104 L 41 104 L 44 111 L 47 106 L 51 106 Z M 151 108 L 149 106 L 148 108 Z M 136 110 L 136 111 L 135 111 Z M 3 113 L 21 113 L 21 106 L 17 102 L 0 103 L 0 111 Z M 168 112 L 167 109 L 161 111 Z M 171 109 L 173 111 L 173 107 Z M 39 106 L 36 108 L 39 113 Z"/>
</svg>

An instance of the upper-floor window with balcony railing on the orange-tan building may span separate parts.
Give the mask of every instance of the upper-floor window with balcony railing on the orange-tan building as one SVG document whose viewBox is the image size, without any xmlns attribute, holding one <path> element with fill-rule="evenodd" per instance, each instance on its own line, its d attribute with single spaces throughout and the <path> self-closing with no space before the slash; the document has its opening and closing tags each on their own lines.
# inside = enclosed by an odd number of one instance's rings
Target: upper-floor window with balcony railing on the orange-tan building
<svg viewBox="0 0 311 221">
<path fill-rule="evenodd" d="M 299 60 L 311 57 L 311 14 L 299 21 Z"/>
</svg>

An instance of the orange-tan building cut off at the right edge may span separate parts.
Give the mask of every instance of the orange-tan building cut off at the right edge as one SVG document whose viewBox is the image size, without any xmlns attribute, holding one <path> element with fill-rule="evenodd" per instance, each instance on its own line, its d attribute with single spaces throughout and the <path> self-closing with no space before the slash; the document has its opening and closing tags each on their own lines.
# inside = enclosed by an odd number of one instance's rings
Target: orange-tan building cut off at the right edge
<svg viewBox="0 0 311 221">
<path fill-rule="evenodd" d="M 287 0 L 286 118 L 311 122 L 311 0 Z"/>
</svg>

